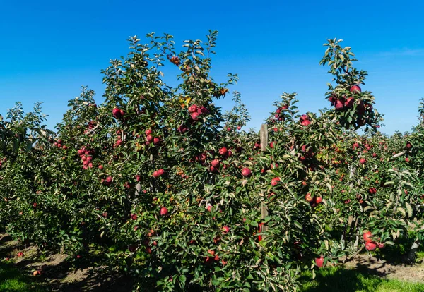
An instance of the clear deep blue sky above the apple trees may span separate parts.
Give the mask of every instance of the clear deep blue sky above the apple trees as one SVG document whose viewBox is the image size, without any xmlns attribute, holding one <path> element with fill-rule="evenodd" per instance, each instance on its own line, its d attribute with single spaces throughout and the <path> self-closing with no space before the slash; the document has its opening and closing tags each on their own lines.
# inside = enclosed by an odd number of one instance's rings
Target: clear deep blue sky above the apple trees
<svg viewBox="0 0 424 292">
<path fill-rule="evenodd" d="M 41 101 L 53 128 L 81 85 L 102 102 L 100 70 L 126 55 L 130 35 L 167 32 L 180 45 L 211 29 L 219 31 L 213 76 L 239 75 L 230 90 L 241 92 L 249 127 L 259 128 L 282 92 L 298 92 L 302 112 L 329 107 L 331 75 L 319 60 L 326 39 L 338 37 L 369 73 L 363 90 L 385 115 L 382 132 L 411 130 L 424 97 L 424 3 L 319 2 L 1 1 L 0 113 Z M 230 109 L 230 97 L 219 105 Z"/>
</svg>

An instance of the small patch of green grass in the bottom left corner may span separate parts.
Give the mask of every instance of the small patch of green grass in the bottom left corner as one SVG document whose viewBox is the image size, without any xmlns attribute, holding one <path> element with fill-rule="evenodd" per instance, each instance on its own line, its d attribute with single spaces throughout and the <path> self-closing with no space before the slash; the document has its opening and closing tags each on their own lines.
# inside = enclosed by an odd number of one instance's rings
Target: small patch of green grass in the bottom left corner
<svg viewBox="0 0 424 292">
<path fill-rule="evenodd" d="M 8 292 L 45 292 L 45 286 L 38 283 L 35 278 L 25 275 L 12 263 L 0 262 L 0 291 Z"/>
</svg>

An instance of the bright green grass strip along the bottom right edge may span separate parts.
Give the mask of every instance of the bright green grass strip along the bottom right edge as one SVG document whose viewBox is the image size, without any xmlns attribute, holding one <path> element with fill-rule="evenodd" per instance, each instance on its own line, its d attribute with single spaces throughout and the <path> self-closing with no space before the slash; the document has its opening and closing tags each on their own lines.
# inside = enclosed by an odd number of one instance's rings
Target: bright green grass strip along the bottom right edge
<svg viewBox="0 0 424 292">
<path fill-rule="evenodd" d="M 312 279 L 311 272 L 302 274 L 301 292 L 422 292 L 424 284 L 384 279 L 380 276 L 362 274 L 353 269 L 330 267 L 319 269 Z"/>
</svg>

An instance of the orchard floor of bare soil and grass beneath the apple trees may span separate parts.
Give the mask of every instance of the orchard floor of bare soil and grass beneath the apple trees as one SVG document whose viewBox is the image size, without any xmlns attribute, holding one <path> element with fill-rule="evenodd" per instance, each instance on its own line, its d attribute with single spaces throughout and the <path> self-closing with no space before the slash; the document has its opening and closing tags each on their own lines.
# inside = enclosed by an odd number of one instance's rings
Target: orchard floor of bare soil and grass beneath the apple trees
<svg viewBox="0 0 424 292">
<path fill-rule="evenodd" d="M 17 257 L 19 252 L 23 257 Z M 131 291 L 129 279 L 102 274 L 92 267 L 75 269 L 66 263 L 66 255 L 43 254 L 6 234 L 0 234 L 0 259 L 0 291 Z M 42 275 L 33 276 L 35 269 L 42 269 Z M 305 272 L 300 280 L 302 292 L 424 292 L 424 264 L 391 264 L 358 255 L 343 266 L 319 269 L 315 279 Z"/>
</svg>

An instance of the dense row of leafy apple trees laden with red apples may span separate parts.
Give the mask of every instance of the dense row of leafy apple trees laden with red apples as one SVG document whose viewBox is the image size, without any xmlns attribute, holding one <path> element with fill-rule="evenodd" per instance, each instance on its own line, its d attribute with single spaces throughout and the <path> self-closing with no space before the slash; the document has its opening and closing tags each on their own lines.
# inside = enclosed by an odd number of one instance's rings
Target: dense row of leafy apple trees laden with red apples
<svg viewBox="0 0 424 292">
<path fill-rule="evenodd" d="M 216 37 L 179 52 L 171 35 L 131 37 L 129 54 L 102 71 L 105 101 L 83 87 L 55 131 L 40 104 L 9 110 L 1 228 L 74 264 L 102 255 L 139 291 L 294 291 L 302 269 L 361 252 L 413 261 L 424 232 L 423 124 L 380 133 L 367 72 L 329 39 L 320 62 L 329 109 L 300 113 L 295 93 L 283 93 L 261 149 L 259 133 L 242 130 L 239 92 L 230 111 L 214 103 L 237 82 L 211 76 Z M 163 66 L 179 69 L 179 85 L 165 83 Z M 399 250 L 405 238 L 413 244 Z"/>
</svg>

